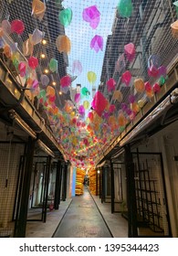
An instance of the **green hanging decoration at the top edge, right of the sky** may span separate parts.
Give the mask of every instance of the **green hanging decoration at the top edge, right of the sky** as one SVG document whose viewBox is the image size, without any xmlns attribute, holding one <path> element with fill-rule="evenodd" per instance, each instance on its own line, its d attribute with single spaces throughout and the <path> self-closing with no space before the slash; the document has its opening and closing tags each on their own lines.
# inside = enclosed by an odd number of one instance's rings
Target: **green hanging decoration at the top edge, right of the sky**
<svg viewBox="0 0 178 256">
<path fill-rule="evenodd" d="M 133 11 L 131 0 L 119 0 L 117 8 L 122 17 L 130 17 Z"/>
</svg>

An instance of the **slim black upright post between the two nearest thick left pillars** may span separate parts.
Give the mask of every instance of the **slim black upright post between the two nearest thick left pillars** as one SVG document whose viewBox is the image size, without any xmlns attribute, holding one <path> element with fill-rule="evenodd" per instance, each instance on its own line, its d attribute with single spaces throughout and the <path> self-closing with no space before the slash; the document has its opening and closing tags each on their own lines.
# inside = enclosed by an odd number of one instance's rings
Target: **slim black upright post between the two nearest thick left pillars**
<svg viewBox="0 0 178 256">
<path fill-rule="evenodd" d="M 48 183 L 49 183 L 49 174 L 51 169 L 51 156 L 47 157 L 47 168 L 46 168 L 46 176 L 45 176 L 45 201 L 44 201 L 44 211 L 42 213 L 43 222 L 47 221 L 47 197 L 48 197 Z"/>
</svg>

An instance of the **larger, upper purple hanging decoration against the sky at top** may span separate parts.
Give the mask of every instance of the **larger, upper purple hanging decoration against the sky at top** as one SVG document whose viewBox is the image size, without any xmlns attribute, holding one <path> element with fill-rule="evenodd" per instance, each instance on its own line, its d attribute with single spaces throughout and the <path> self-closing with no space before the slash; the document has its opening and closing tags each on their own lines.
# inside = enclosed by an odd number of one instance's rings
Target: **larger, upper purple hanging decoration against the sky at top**
<svg viewBox="0 0 178 256">
<path fill-rule="evenodd" d="M 89 22 L 89 26 L 93 29 L 99 26 L 100 13 L 96 5 L 85 8 L 83 10 L 82 16 L 86 22 Z"/>
</svg>

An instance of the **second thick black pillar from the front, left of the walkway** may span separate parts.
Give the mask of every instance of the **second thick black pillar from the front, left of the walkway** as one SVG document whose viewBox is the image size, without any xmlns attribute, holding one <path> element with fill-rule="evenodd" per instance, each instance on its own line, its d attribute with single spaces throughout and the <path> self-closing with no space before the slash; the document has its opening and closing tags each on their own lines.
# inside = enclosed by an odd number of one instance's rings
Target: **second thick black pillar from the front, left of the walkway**
<svg viewBox="0 0 178 256">
<path fill-rule="evenodd" d="M 61 190 L 61 161 L 58 161 L 57 164 L 57 176 L 56 176 L 56 185 L 55 185 L 55 200 L 54 208 L 58 209 L 60 204 L 60 190 Z"/>
</svg>

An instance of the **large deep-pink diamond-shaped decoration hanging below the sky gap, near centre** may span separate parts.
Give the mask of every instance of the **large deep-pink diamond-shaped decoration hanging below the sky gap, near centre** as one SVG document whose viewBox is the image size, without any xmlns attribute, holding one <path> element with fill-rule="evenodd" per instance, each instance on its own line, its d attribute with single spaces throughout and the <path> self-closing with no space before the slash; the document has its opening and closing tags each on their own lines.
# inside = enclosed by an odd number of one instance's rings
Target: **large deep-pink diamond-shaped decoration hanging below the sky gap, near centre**
<svg viewBox="0 0 178 256">
<path fill-rule="evenodd" d="M 102 95 L 102 93 L 97 91 L 94 95 L 93 101 L 91 102 L 91 106 L 99 114 L 99 116 L 101 116 L 108 103 L 109 102 Z"/>
</svg>

